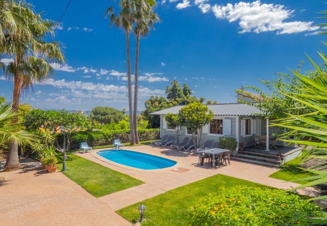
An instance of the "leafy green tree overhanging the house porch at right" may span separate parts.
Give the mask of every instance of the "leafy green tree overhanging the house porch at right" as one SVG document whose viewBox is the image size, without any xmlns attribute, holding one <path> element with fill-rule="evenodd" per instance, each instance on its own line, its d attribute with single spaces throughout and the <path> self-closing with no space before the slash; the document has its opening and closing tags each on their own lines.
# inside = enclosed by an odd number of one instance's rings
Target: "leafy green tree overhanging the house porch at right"
<svg viewBox="0 0 327 226">
<path fill-rule="evenodd" d="M 298 65 L 297 72 L 300 72 L 301 64 Z M 247 86 L 245 90 L 236 89 L 237 92 L 249 96 L 253 101 L 241 101 L 249 105 L 256 106 L 263 111 L 264 116 L 269 118 L 281 119 L 287 116 L 287 114 L 301 115 L 305 114 L 307 108 L 303 108 L 303 105 L 291 98 L 291 93 L 301 93 L 303 90 L 303 84 L 297 79 L 296 76 L 284 73 L 276 73 L 276 80 L 259 80 L 268 90 L 265 91 L 257 86 Z M 315 71 L 308 71 L 308 77 L 314 78 L 317 76 Z M 258 95 L 253 95 L 255 91 Z"/>
</svg>

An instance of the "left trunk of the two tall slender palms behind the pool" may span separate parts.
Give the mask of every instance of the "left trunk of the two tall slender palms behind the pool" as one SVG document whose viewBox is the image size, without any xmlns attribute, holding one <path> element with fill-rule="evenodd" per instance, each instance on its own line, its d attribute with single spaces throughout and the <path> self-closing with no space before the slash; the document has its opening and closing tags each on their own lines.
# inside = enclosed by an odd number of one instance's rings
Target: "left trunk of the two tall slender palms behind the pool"
<svg viewBox="0 0 327 226">
<path fill-rule="evenodd" d="M 127 53 L 127 86 L 128 86 L 128 114 L 129 114 L 129 142 L 135 145 L 135 133 L 133 123 L 133 103 L 132 103 L 132 85 L 131 85 L 131 57 L 129 50 L 129 31 L 126 31 L 126 53 Z"/>
</svg>

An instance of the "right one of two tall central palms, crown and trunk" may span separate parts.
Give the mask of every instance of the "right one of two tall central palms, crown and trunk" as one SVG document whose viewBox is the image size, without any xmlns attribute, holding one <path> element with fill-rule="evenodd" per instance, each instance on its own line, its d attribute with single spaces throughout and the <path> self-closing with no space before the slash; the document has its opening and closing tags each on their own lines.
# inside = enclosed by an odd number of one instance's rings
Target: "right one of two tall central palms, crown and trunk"
<svg viewBox="0 0 327 226">
<path fill-rule="evenodd" d="M 136 22 L 134 28 L 134 35 L 136 37 L 136 46 L 135 46 L 135 70 L 134 70 L 134 108 L 133 108 L 133 124 L 134 124 L 134 134 L 135 134 L 135 143 L 139 144 L 139 137 L 137 134 L 137 95 L 138 95 L 138 62 L 139 62 L 139 46 L 140 46 L 140 37 L 146 36 L 149 33 L 150 28 L 154 29 L 153 24 L 159 21 L 157 14 L 153 13 L 152 7 L 156 4 L 154 0 L 140 0 L 138 4 L 141 6 L 138 8 L 143 9 L 142 11 L 136 11 L 134 19 Z"/>
</svg>

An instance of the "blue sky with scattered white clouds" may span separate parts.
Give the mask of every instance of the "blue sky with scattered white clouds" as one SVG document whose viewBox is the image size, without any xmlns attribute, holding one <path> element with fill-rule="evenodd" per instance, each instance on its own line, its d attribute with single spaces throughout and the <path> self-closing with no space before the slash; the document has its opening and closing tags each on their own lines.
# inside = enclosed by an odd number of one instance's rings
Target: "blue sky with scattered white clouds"
<svg viewBox="0 0 327 226">
<path fill-rule="evenodd" d="M 31 0 L 36 12 L 58 21 L 67 1 Z M 55 76 L 21 97 L 34 108 L 91 110 L 95 106 L 128 109 L 126 36 L 110 28 L 106 9 L 117 1 L 72 0 L 54 40 L 65 55 L 53 64 Z M 235 88 L 260 85 L 277 72 L 288 73 L 305 60 L 320 62 L 325 47 L 318 12 L 324 1 L 160 0 L 160 23 L 140 41 L 139 110 L 151 95 L 165 96 L 173 79 L 187 83 L 197 97 L 236 102 Z M 135 38 L 131 35 L 132 74 Z M 11 59 L 5 58 L 8 63 Z M 0 77 L 0 96 L 12 100 L 13 84 Z"/>
</svg>

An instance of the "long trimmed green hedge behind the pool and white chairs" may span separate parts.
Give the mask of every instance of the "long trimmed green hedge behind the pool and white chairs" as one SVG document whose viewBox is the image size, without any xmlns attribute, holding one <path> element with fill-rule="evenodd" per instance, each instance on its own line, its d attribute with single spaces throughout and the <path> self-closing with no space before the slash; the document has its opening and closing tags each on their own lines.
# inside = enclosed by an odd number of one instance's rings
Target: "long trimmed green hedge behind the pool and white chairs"
<svg viewBox="0 0 327 226">
<path fill-rule="evenodd" d="M 150 141 L 159 139 L 159 129 L 138 129 L 140 141 Z M 56 136 L 59 144 L 62 144 L 62 134 Z M 69 150 L 78 149 L 80 143 L 87 142 L 89 146 L 111 145 L 115 139 L 122 143 L 129 142 L 129 130 L 112 130 L 112 131 L 80 131 L 70 135 Z"/>
</svg>

